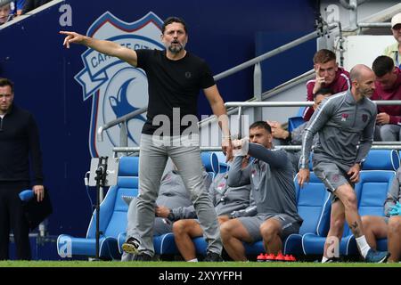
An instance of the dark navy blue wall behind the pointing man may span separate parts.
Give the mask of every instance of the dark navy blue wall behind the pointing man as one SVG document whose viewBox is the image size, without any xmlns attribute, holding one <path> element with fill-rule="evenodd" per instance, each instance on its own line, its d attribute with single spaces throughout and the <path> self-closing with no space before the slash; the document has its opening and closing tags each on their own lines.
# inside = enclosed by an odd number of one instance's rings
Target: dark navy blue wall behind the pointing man
<svg viewBox="0 0 401 285">
<path fill-rule="evenodd" d="M 94 70 L 89 70 L 90 64 L 96 69 L 102 61 L 110 59 L 98 54 L 97 62 L 85 61 L 90 59 L 85 57 L 86 48 L 72 46 L 70 50 L 64 49 L 59 30 L 93 33 L 107 38 L 119 32 L 121 35 L 130 33 L 135 26 L 135 30 L 150 28 L 154 35 L 155 28 L 160 27 L 159 20 L 178 15 L 190 28 L 188 50 L 208 61 L 213 73 L 217 74 L 257 55 L 256 37 L 260 35 L 263 35 L 264 42 L 271 39 L 274 43 L 284 44 L 289 35 L 313 31 L 314 4 L 315 1 L 304 0 L 179 0 L 174 4 L 166 1 L 70 0 L 2 28 L 0 77 L 9 77 L 15 82 L 15 102 L 35 115 L 40 128 L 45 184 L 51 191 L 54 208 L 48 221 L 49 233 L 85 236 L 92 208 L 86 195 L 84 175 L 92 156 L 102 154 L 102 150 L 110 150 L 113 143 L 118 143 L 112 132 L 105 135 L 106 144 L 100 146 L 95 142 L 95 126 L 112 117 L 112 113 L 109 117 L 104 114 L 102 118 L 98 117 L 110 109 L 110 104 L 106 106 L 106 103 L 112 101 L 111 95 L 101 98 L 112 88 L 110 81 L 106 80 L 101 87 L 96 84 L 102 81 L 103 75 L 110 75 L 108 72 L 114 72 L 112 78 L 118 82 L 122 79 L 117 75 L 132 71 L 114 62 L 110 69 L 102 69 L 98 74 L 100 77 L 94 76 L 91 73 Z M 141 22 L 141 19 L 145 20 Z M 102 30 L 106 22 L 114 28 L 114 34 L 108 35 L 110 30 Z M 160 44 L 157 39 L 150 43 Z M 309 50 L 308 54 L 313 52 Z M 294 61 L 296 59 L 286 61 L 284 58 L 280 65 L 272 68 L 288 69 L 293 64 L 299 65 Z M 301 68 L 307 69 L 307 66 Z M 247 69 L 218 82 L 225 101 L 250 99 L 253 94 L 252 72 L 252 69 Z M 94 77 L 89 80 L 90 76 Z M 280 80 L 270 78 L 269 85 L 278 85 Z M 200 114 L 209 114 L 208 103 L 202 97 Z M 128 99 L 132 100 L 131 97 Z M 113 104 L 113 107 L 118 105 L 116 102 Z M 121 108 L 125 111 L 135 107 L 134 102 L 126 102 Z M 119 111 L 117 108 L 114 115 L 117 116 Z M 133 126 L 136 130 L 140 128 Z M 94 199 L 94 190 L 90 195 Z"/>
</svg>

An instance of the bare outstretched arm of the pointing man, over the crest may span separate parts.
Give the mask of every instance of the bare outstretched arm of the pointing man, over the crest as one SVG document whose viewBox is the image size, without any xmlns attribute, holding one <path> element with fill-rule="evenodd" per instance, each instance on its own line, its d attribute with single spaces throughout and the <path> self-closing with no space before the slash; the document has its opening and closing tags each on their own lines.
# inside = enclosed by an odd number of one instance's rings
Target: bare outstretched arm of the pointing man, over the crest
<svg viewBox="0 0 401 285">
<path fill-rule="evenodd" d="M 121 61 L 127 61 L 127 63 L 136 67 L 136 52 L 125 46 L 106 40 L 96 39 L 94 37 L 86 37 L 75 32 L 60 31 L 60 34 L 67 36 L 64 38 L 63 43 L 67 48 L 70 48 L 70 44 L 86 45 L 99 53 L 115 56 Z"/>
</svg>

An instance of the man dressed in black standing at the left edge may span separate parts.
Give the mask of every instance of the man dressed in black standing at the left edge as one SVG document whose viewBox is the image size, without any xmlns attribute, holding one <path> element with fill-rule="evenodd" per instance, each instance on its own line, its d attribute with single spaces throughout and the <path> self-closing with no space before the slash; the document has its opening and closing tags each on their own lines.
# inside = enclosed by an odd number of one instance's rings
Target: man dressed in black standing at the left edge
<svg viewBox="0 0 401 285">
<path fill-rule="evenodd" d="M 44 199 L 42 154 L 37 123 L 27 110 L 12 103 L 13 84 L 0 78 L 0 260 L 8 259 L 10 231 L 14 233 L 17 258 L 30 260 L 29 224 L 24 216 L 20 191 L 32 184 L 37 201 Z"/>
</svg>

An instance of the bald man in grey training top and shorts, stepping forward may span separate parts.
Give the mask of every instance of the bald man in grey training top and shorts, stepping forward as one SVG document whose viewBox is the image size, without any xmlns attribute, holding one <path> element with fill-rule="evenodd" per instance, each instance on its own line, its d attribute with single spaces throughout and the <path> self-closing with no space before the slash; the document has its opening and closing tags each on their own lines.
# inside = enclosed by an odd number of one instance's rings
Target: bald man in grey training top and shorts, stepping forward
<svg viewBox="0 0 401 285">
<path fill-rule="evenodd" d="M 389 254 L 373 250 L 366 242 L 354 191 L 361 163 L 373 142 L 377 108 L 369 97 L 375 88 L 375 76 L 372 69 L 358 64 L 351 69 L 350 78 L 351 89 L 328 97 L 311 118 L 302 139 L 298 181 L 301 188 L 309 181 L 309 154 L 313 138 L 318 133 L 313 170 L 333 196 L 331 224 L 322 262 L 329 262 L 334 257 L 328 249 L 333 240 L 339 241 L 337 244 L 340 245 L 347 221 L 364 260 L 382 263 Z"/>
</svg>

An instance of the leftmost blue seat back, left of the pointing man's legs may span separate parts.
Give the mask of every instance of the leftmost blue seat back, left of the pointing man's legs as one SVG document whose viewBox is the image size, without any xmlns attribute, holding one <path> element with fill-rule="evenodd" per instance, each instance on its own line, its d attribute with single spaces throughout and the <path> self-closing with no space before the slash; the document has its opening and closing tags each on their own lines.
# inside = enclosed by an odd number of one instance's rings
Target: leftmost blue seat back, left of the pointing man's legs
<svg viewBox="0 0 401 285">
<path fill-rule="evenodd" d="M 121 157 L 119 159 L 119 176 L 117 185 L 111 186 L 100 208 L 100 230 L 107 237 L 117 238 L 120 232 L 127 227 L 128 206 L 121 199 L 122 196 L 138 195 L 138 169 L 137 157 Z M 86 238 L 95 237 L 95 212 L 89 224 Z"/>
</svg>

